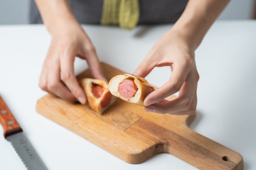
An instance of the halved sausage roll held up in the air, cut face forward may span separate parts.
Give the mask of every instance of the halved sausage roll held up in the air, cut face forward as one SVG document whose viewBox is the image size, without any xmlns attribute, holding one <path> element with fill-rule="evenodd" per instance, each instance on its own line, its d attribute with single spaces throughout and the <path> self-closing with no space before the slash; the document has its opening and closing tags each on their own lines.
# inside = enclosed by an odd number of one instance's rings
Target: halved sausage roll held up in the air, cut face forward
<svg viewBox="0 0 256 170">
<path fill-rule="evenodd" d="M 116 75 L 109 82 L 112 95 L 125 101 L 144 106 L 143 101 L 155 90 L 144 78 L 133 74 Z"/>
</svg>

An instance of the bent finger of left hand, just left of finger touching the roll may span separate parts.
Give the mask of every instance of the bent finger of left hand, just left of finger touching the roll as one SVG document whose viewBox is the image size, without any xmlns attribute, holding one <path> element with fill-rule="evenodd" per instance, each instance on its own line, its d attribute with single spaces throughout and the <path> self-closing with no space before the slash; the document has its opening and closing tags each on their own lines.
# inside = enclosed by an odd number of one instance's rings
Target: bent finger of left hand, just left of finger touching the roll
<svg viewBox="0 0 256 170">
<path fill-rule="evenodd" d="M 60 80 L 60 64 L 59 60 L 51 61 L 50 64 L 51 74 L 48 74 L 48 90 L 56 96 L 66 100 L 76 100 L 74 95 L 68 90 L 68 88 L 61 83 Z"/>
</svg>

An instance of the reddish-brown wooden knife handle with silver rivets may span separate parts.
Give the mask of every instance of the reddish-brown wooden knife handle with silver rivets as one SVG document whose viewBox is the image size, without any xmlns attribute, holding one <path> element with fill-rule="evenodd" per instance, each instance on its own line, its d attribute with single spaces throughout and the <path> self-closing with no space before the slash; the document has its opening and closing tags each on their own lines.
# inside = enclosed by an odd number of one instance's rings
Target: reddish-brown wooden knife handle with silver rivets
<svg viewBox="0 0 256 170">
<path fill-rule="evenodd" d="M 3 127 L 3 136 L 6 138 L 12 134 L 21 132 L 18 122 L 0 96 L 0 123 Z"/>
</svg>

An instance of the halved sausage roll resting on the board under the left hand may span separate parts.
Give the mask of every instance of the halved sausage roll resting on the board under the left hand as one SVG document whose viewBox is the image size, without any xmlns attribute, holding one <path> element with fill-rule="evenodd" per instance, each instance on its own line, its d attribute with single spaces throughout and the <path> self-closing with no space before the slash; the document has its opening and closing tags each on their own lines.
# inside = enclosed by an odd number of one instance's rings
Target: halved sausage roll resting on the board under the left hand
<svg viewBox="0 0 256 170">
<path fill-rule="evenodd" d="M 85 91 L 89 106 L 100 114 L 116 101 L 116 97 L 109 91 L 108 83 L 103 80 L 83 78 L 80 85 Z"/>
</svg>

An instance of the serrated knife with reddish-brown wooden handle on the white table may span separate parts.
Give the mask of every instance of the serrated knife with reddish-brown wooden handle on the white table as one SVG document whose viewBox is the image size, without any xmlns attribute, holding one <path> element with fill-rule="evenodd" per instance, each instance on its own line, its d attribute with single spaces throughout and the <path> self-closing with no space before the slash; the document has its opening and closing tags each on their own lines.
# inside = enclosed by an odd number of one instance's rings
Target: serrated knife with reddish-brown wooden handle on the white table
<svg viewBox="0 0 256 170">
<path fill-rule="evenodd" d="M 3 136 L 11 142 L 13 148 L 28 170 L 47 170 L 37 152 L 24 135 L 18 122 L 13 117 L 7 105 L 0 96 L 0 123 Z"/>
</svg>

